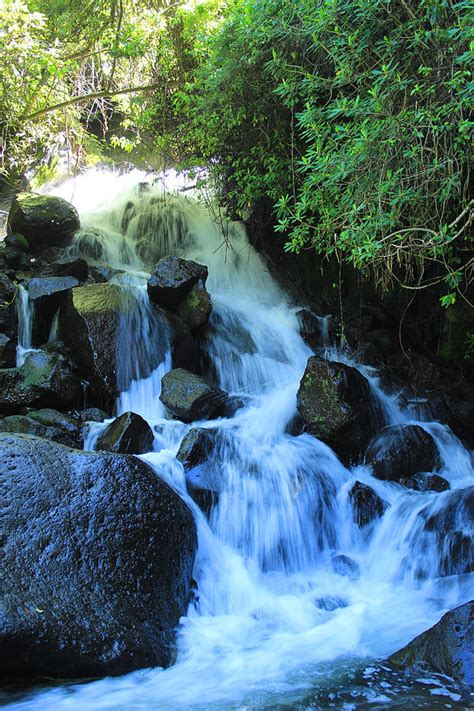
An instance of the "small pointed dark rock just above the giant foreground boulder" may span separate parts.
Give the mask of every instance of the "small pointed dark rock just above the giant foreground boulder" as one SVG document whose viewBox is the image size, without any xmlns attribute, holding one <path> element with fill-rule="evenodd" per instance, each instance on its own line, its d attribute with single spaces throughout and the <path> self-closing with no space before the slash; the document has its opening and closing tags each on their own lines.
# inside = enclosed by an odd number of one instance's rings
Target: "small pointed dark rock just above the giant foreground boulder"
<svg viewBox="0 0 474 711">
<path fill-rule="evenodd" d="M 153 448 L 153 432 L 146 420 L 135 412 L 117 417 L 97 440 L 96 449 L 118 454 L 143 454 Z"/>
</svg>

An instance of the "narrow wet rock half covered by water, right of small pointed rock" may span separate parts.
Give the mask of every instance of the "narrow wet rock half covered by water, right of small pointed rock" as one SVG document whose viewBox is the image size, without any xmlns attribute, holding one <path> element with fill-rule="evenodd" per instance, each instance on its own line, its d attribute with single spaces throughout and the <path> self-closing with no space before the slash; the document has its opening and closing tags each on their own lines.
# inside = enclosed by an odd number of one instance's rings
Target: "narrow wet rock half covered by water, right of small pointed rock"
<svg viewBox="0 0 474 711">
<path fill-rule="evenodd" d="M 213 456 L 217 432 L 194 427 L 184 437 L 176 455 L 183 464 L 189 495 L 207 516 L 218 502 L 221 489 L 221 468 Z"/>
</svg>

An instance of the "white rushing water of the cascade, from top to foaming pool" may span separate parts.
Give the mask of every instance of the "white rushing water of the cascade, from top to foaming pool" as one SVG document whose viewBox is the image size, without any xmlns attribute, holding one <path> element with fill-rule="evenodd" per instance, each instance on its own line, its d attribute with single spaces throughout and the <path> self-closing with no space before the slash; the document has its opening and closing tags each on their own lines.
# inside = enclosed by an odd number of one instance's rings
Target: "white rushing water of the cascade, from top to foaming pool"
<svg viewBox="0 0 474 711">
<path fill-rule="evenodd" d="M 194 511 L 199 601 L 182 620 L 172 668 L 59 686 L 12 706 L 290 707 L 318 684 L 335 685 L 348 660 L 357 666 L 362 662 L 354 660 L 386 657 L 473 596 L 472 576 L 439 577 L 438 545 L 423 527 L 451 492 L 419 493 L 375 479 L 366 466 L 347 469 L 327 445 L 294 434 L 296 393 L 312 351 L 299 334 L 298 309 L 242 226 L 226 224 L 223 232 L 189 192 L 166 193 L 161 181 L 138 173 L 90 173 L 55 192 L 81 215 L 72 250 L 120 270 L 114 281 L 133 302 L 117 412 L 138 412 L 153 426 L 154 451 L 143 459 Z M 175 458 L 191 425 L 167 419 L 159 400 L 161 378 L 171 368 L 170 333 L 150 307 L 145 284 L 153 264 L 168 254 L 208 266 L 213 314 L 206 352 L 219 385 L 245 402 L 232 417 L 198 423 L 217 429 L 222 491 L 209 522 L 186 494 Z M 322 326 L 327 342 L 327 319 Z M 328 352 L 369 379 L 385 424 L 414 420 L 396 395 L 383 391 L 373 369 L 348 353 Z M 453 489 L 472 485 L 469 453 L 444 425 L 423 426 L 438 443 L 441 475 Z M 102 427 L 91 425 L 86 448 Z M 388 503 L 362 530 L 349 508 L 356 480 Z M 338 574 L 334 554 L 356 561 L 360 577 Z"/>
</svg>

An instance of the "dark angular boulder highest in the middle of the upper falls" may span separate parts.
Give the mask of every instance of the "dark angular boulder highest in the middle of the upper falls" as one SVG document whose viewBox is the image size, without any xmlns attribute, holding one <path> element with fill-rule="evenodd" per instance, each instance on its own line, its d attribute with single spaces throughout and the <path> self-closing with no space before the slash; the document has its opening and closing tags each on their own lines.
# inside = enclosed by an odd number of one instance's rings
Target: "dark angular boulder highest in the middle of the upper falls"
<svg viewBox="0 0 474 711">
<path fill-rule="evenodd" d="M 188 292 L 207 279 L 207 267 L 180 257 L 163 257 L 156 264 L 148 280 L 150 300 L 165 309 L 174 311 Z"/>
</svg>

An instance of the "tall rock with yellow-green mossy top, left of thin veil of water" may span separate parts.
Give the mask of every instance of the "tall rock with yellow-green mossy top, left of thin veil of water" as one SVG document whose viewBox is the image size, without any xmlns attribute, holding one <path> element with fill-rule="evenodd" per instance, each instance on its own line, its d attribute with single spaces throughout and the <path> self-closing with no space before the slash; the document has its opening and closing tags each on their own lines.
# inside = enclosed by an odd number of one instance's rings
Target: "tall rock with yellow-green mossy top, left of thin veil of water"
<svg viewBox="0 0 474 711">
<path fill-rule="evenodd" d="M 59 312 L 59 336 L 99 404 L 118 395 L 117 353 L 124 344 L 121 317 L 127 308 L 114 284 L 88 284 L 67 293 Z"/>
</svg>

